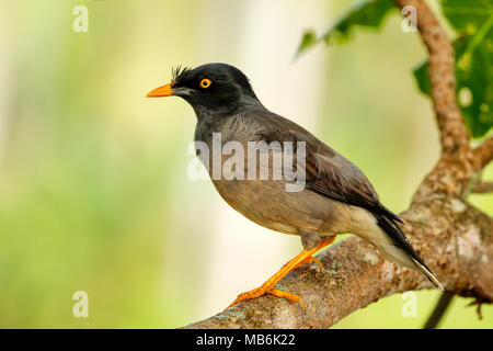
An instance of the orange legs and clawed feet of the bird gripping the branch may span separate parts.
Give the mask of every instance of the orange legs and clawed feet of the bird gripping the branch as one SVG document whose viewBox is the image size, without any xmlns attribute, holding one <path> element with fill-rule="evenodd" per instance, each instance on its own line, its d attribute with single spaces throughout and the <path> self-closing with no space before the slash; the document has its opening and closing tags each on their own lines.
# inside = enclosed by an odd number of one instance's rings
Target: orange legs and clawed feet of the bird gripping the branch
<svg viewBox="0 0 493 351">
<path fill-rule="evenodd" d="M 262 284 L 261 286 L 259 286 L 250 292 L 238 295 L 237 299 L 228 307 L 234 306 L 236 304 L 239 304 L 246 299 L 252 299 L 252 298 L 256 298 L 262 295 L 265 295 L 265 294 L 271 294 L 271 295 L 274 295 L 277 297 L 284 297 L 294 303 L 299 303 L 305 310 L 305 304 L 303 304 L 301 297 L 299 297 L 298 295 L 293 294 L 293 293 L 276 290 L 276 288 L 274 288 L 274 286 L 286 274 L 288 274 L 290 271 L 295 270 L 296 268 L 298 268 L 301 264 L 316 262 L 317 264 L 319 264 L 320 268 L 323 268 L 322 263 L 317 258 L 312 257 L 312 254 L 316 253 L 318 250 L 324 248 L 325 246 L 332 244 L 334 241 L 334 239 L 335 239 L 335 236 L 330 237 L 329 239 L 324 239 L 324 240 L 320 241 L 320 244 L 313 249 L 302 250 L 297 257 L 295 257 L 293 260 L 290 260 L 285 265 L 283 265 L 283 268 L 276 274 L 271 276 L 264 284 Z"/>
</svg>

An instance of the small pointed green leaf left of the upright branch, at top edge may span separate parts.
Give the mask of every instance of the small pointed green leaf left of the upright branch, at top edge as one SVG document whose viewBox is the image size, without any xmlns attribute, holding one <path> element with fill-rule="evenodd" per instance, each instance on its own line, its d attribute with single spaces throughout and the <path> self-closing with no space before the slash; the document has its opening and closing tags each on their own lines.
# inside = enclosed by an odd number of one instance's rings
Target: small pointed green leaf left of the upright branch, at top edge
<svg viewBox="0 0 493 351">
<path fill-rule="evenodd" d="M 392 0 L 359 1 L 320 38 L 317 37 L 313 31 L 306 32 L 296 55 L 298 56 L 321 41 L 329 44 L 333 41 L 347 39 L 351 36 L 352 29 L 355 26 L 378 29 L 391 9 L 397 9 Z"/>
</svg>

